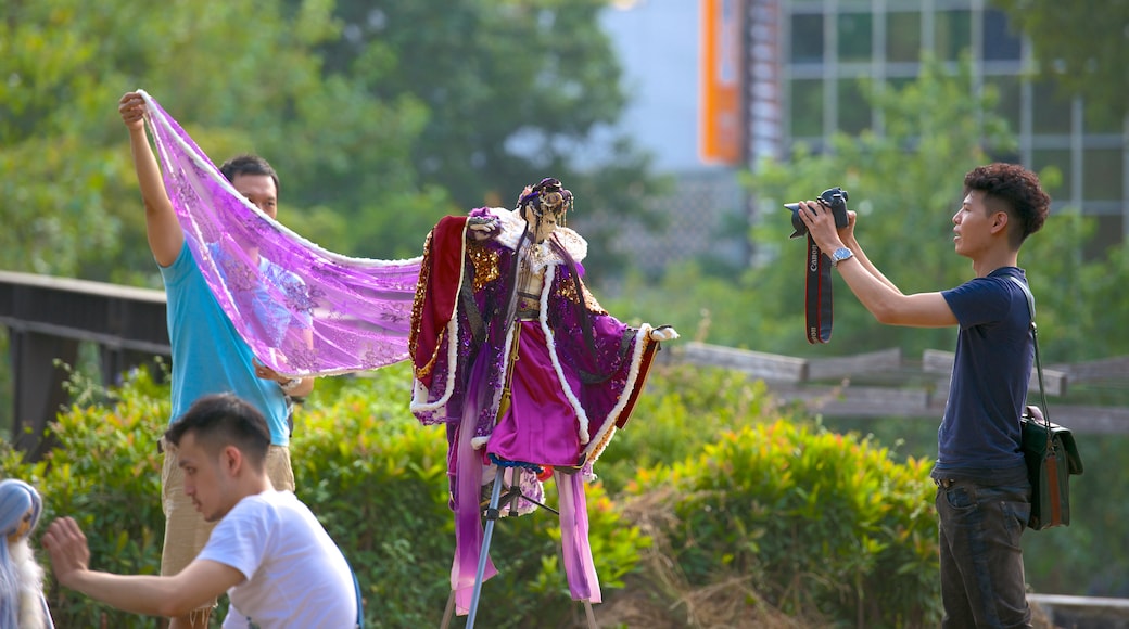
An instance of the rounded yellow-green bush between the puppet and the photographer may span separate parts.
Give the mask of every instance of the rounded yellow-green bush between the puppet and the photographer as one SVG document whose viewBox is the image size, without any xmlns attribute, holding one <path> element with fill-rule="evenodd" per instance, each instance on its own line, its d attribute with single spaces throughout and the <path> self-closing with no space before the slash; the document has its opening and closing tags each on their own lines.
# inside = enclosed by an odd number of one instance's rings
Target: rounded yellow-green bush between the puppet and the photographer
<svg viewBox="0 0 1129 629">
<path fill-rule="evenodd" d="M 684 461 L 641 470 L 668 489 L 672 558 L 691 586 L 751 577 L 770 605 L 829 623 L 919 627 L 939 618 L 926 461 L 788 422 L 725 433 Z"/>
</svg>

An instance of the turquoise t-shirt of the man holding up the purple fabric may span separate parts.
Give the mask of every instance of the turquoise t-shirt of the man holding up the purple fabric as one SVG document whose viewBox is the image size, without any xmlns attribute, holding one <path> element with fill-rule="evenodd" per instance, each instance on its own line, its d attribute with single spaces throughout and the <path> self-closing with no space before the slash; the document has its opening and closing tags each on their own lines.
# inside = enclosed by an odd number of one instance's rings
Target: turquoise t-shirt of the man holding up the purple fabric
<svg viewBox="0 0 1129 629">
<path fill-rule="evenodd" d="M 173 349 L 173 409 L 176 422 L 198 398 L 233 392 L 266 418 L 271 443 L 287 445 L 287 404 L 277 382 L 255 375 L 251 347 L 235 331 L 196 265 L 187 242 L 170 266 L 160 266 L 168 296 Z"/>
</svg>

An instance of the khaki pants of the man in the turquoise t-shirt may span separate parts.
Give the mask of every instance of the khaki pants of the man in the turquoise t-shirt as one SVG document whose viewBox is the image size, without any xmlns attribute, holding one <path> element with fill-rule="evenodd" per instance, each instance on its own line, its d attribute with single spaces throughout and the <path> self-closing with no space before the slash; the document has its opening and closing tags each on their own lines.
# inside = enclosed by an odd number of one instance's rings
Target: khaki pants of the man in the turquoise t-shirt
<svg viewBox="0 0 1129 629">
<path fill-rule="evenodd" d="M 165 462 L 160 470 L 161 508 L 165 512 L 165 547 L 160 553 L 160 574 L 178 574 L 208 543 L 215 522 L 207 522 L 196 511 L 192 498 L 184 494 L 184 475 L 177 464 L 176 448 L 161 440 Z M 266 476 L 280 491 L 294 491 L 294 470 L 290 468 L 290 449 L 271 445 L 266 452 Z M 213 599 L 201 609 L 216 605 Z"/>
</svg>

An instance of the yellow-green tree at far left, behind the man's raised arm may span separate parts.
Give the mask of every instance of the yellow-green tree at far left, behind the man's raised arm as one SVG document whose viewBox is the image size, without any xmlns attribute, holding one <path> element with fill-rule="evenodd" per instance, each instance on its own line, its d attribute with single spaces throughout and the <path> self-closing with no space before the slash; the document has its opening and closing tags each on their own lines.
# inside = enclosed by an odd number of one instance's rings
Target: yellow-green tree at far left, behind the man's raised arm
<svg viewBox="0 0 1129 629">
<path fill-rule="evenodd" d="M 441 206 L 443 195 L 421 195 L 404 166 L 420 106 L 374 100 L 349 77 L 323 78 L 313 48 L 339 35 L 325 0 L 9 3 L 0 21 L 0 266 L 155 283 L 116 115 L 119 97 L 139 87 L 213 160 L 268 157 L 282 178 L 283 221 L 331 248 L 358 230 L 309 200 L 343 177 L 367 184 L 358 174 L 385 174 L 361 191 L 385 211 L 421 198 Z"/>
</svg>

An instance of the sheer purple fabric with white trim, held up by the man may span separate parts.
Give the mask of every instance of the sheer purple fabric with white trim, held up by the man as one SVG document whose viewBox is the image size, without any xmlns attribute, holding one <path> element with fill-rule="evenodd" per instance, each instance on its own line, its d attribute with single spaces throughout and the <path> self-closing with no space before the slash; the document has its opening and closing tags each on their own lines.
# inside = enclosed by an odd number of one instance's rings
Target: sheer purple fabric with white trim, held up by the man
<svg viewBox="0 0 1129 629">
<path fill-rule="evenodd" d="M 236 192 L 176 121 L 141 94 L 185 240 L 261 362 L 305 376 L 409 356 L 421 258 L 350 258 L 301 238 Z"/>
</svg>

